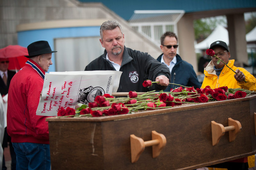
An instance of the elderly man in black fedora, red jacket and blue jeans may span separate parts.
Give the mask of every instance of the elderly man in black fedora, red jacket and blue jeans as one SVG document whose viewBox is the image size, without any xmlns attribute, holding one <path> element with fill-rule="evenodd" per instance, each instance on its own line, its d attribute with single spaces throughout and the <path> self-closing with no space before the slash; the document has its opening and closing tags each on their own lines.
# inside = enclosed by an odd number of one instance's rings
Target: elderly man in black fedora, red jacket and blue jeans
<svg viewBox="0 0 256 170">
<path fill-rule="evenodd" d="M 17 155 L 17 169 L 51 168 L 48 122 L 45 116 L 36 115 L 36 109 L 54 52 L 47 41 L 28 45 L 29 59 L 9 86 L 7 132 Z"/>
</svg>

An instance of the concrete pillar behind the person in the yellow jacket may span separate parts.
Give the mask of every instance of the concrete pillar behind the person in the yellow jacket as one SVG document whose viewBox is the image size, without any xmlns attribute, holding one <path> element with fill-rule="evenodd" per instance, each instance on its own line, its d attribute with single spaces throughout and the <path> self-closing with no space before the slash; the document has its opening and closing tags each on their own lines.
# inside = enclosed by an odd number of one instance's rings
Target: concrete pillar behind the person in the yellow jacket
<svg viewBox="0 0 256 170">
<path fill-rule="evenodd" d="M 244 13 L 230 14 L 226 16 L 228 21 L 230 59 L 236 60 L 236 66 L 243 67 L 242 63 L 248 64 Z"/>
</svg>

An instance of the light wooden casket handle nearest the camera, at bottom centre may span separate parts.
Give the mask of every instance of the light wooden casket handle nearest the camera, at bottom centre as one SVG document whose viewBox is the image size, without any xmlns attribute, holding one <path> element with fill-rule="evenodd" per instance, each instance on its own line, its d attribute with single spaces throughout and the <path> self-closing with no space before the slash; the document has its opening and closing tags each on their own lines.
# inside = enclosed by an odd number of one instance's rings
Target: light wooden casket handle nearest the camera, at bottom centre
<svg viewBox="0 0 256 170">
<path fill-rule="evenodd" d="M 166 144 L 166 138 L 163 134 L 157 133 L 155 130 L 152 132 L 152 140 L 145 141 L 136 137 L 135 135 L 130 135 L 131 140 L 131 157 L 132 163 L 136 162 L 140 158 L 140 154 L 145 150 L 145 147 L 152 146 L 153 158 L 159 156 L 161 150 Z"/>
</svg>

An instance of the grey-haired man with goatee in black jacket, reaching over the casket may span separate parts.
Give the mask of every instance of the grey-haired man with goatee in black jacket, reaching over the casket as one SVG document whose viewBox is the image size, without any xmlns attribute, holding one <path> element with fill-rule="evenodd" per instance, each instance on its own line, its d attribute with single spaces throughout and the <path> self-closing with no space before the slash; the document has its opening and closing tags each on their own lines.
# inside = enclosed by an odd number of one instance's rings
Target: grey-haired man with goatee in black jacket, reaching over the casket
<svg viewBox="0 0 256 170">
<path fill-rule="evenodd" d="M 169 85 L 170 71 L 147 53 L 124 46 L 124 33 L 117 21 L 106 21 L 100 26 L 100 43 L 104 54 L 85 67 L 88 70 L 122 71 L 117 92 L 147 92 L 162 90 Z M 156 81 L 153 86 L 142 86 L 144 80 Z"/>
</svg>

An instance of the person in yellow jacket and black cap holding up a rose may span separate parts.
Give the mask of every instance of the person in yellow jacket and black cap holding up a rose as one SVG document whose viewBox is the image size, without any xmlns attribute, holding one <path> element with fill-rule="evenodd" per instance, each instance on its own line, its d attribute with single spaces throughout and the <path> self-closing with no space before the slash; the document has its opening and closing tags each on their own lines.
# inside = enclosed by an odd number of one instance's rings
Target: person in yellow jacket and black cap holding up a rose
<svg viewBox="0 0 256 170">
<path fill-rule="evenodd" d="M 212 61 L 204 69 L 205 77 L 202 88 L 209 85 L 212 89 L 228 86 L 228 88 L 242 87 L 248 90 L 256 90 L 256 78 L 244 68 L 234 66 L 235 60 L 229 60 L 230 52 L 225 42 L 215 41 L 211 44 L 210 49 L 214 50 L 216 56 L 227 63 L 237 74 L 224 63 L 220 62 L 218 64 L 219 59 L 212 56 Z"/>
</svg>

